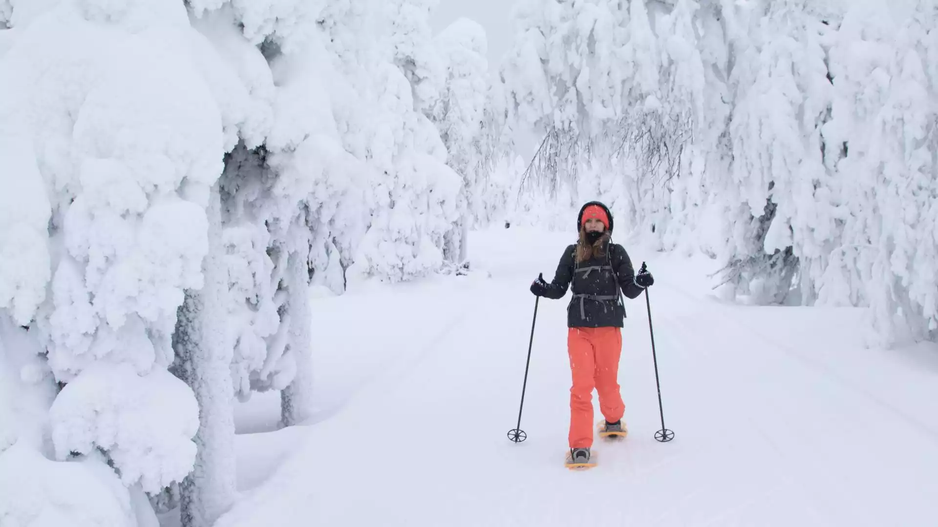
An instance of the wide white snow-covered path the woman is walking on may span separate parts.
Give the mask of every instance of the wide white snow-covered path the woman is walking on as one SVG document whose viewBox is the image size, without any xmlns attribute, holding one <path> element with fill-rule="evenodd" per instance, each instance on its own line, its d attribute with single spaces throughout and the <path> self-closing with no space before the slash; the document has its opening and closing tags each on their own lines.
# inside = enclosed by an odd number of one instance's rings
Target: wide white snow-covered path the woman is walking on
<svg viewBox="0 0 938 527">
<path fill-rule="evenodd" d="M 512 444 L 534 297 L 566 237 L 477 233 L 491 278 L 317 300 L 324 404 L 298 450 L 219 525 L 927 525 L 938 514 L 938 353 L 865 350 L 855 309 L 761 309 L 706 295 L 707 269 L 632 248 L 630 434 L 570 473 L 568 298 L 538 309 L 523 444 Z M 694 262 L 701 262 L 695 260 Z M 828 327 L 842 324 L 840 327 Z M 595 399 L 594 399 L 595 400 Z M 598 410 L 596 419 L 600 418 Z M 609 524 L 609 523 L 607 523 Z"/>
</svg>

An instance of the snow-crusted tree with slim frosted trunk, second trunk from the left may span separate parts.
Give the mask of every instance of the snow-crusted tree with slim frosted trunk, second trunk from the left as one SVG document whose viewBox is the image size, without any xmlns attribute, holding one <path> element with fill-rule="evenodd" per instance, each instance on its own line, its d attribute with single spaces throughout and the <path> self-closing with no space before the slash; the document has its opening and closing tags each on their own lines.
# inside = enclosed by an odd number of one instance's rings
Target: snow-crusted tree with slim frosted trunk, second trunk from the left
<svg viewBox="0 0 938 527">
<path fill-rule="evenodd" d="M 278 89 L 274 127 L 265 142 L 273 178 L 261 206 L 271 236 L 267 250 L 273 256 L 280 326 L 268 339 L 255 383 L 280 390 L 285 425 L 300 423 L 312 412 L 310 268 L 318 265 L 324 275 L 343 275 L 343 267 L 329 258 L 329 252 L 337 252 L 333 238 L 347 239 L 349 227 L 363 222 L 355 213 L 360 217 L 364 210 L 363 198 L 353 193 L 361 169 L 342 148 L 332 117 L 331 100 L 340 95 L 340 86 L 330 80 L 338 72 L 318 29 L 303 42 L 267 54 Z M 345 218 L 353 218 L 350 225 Z M 340 293 L 340 282 L 332 283 Z"/>
</svg>

